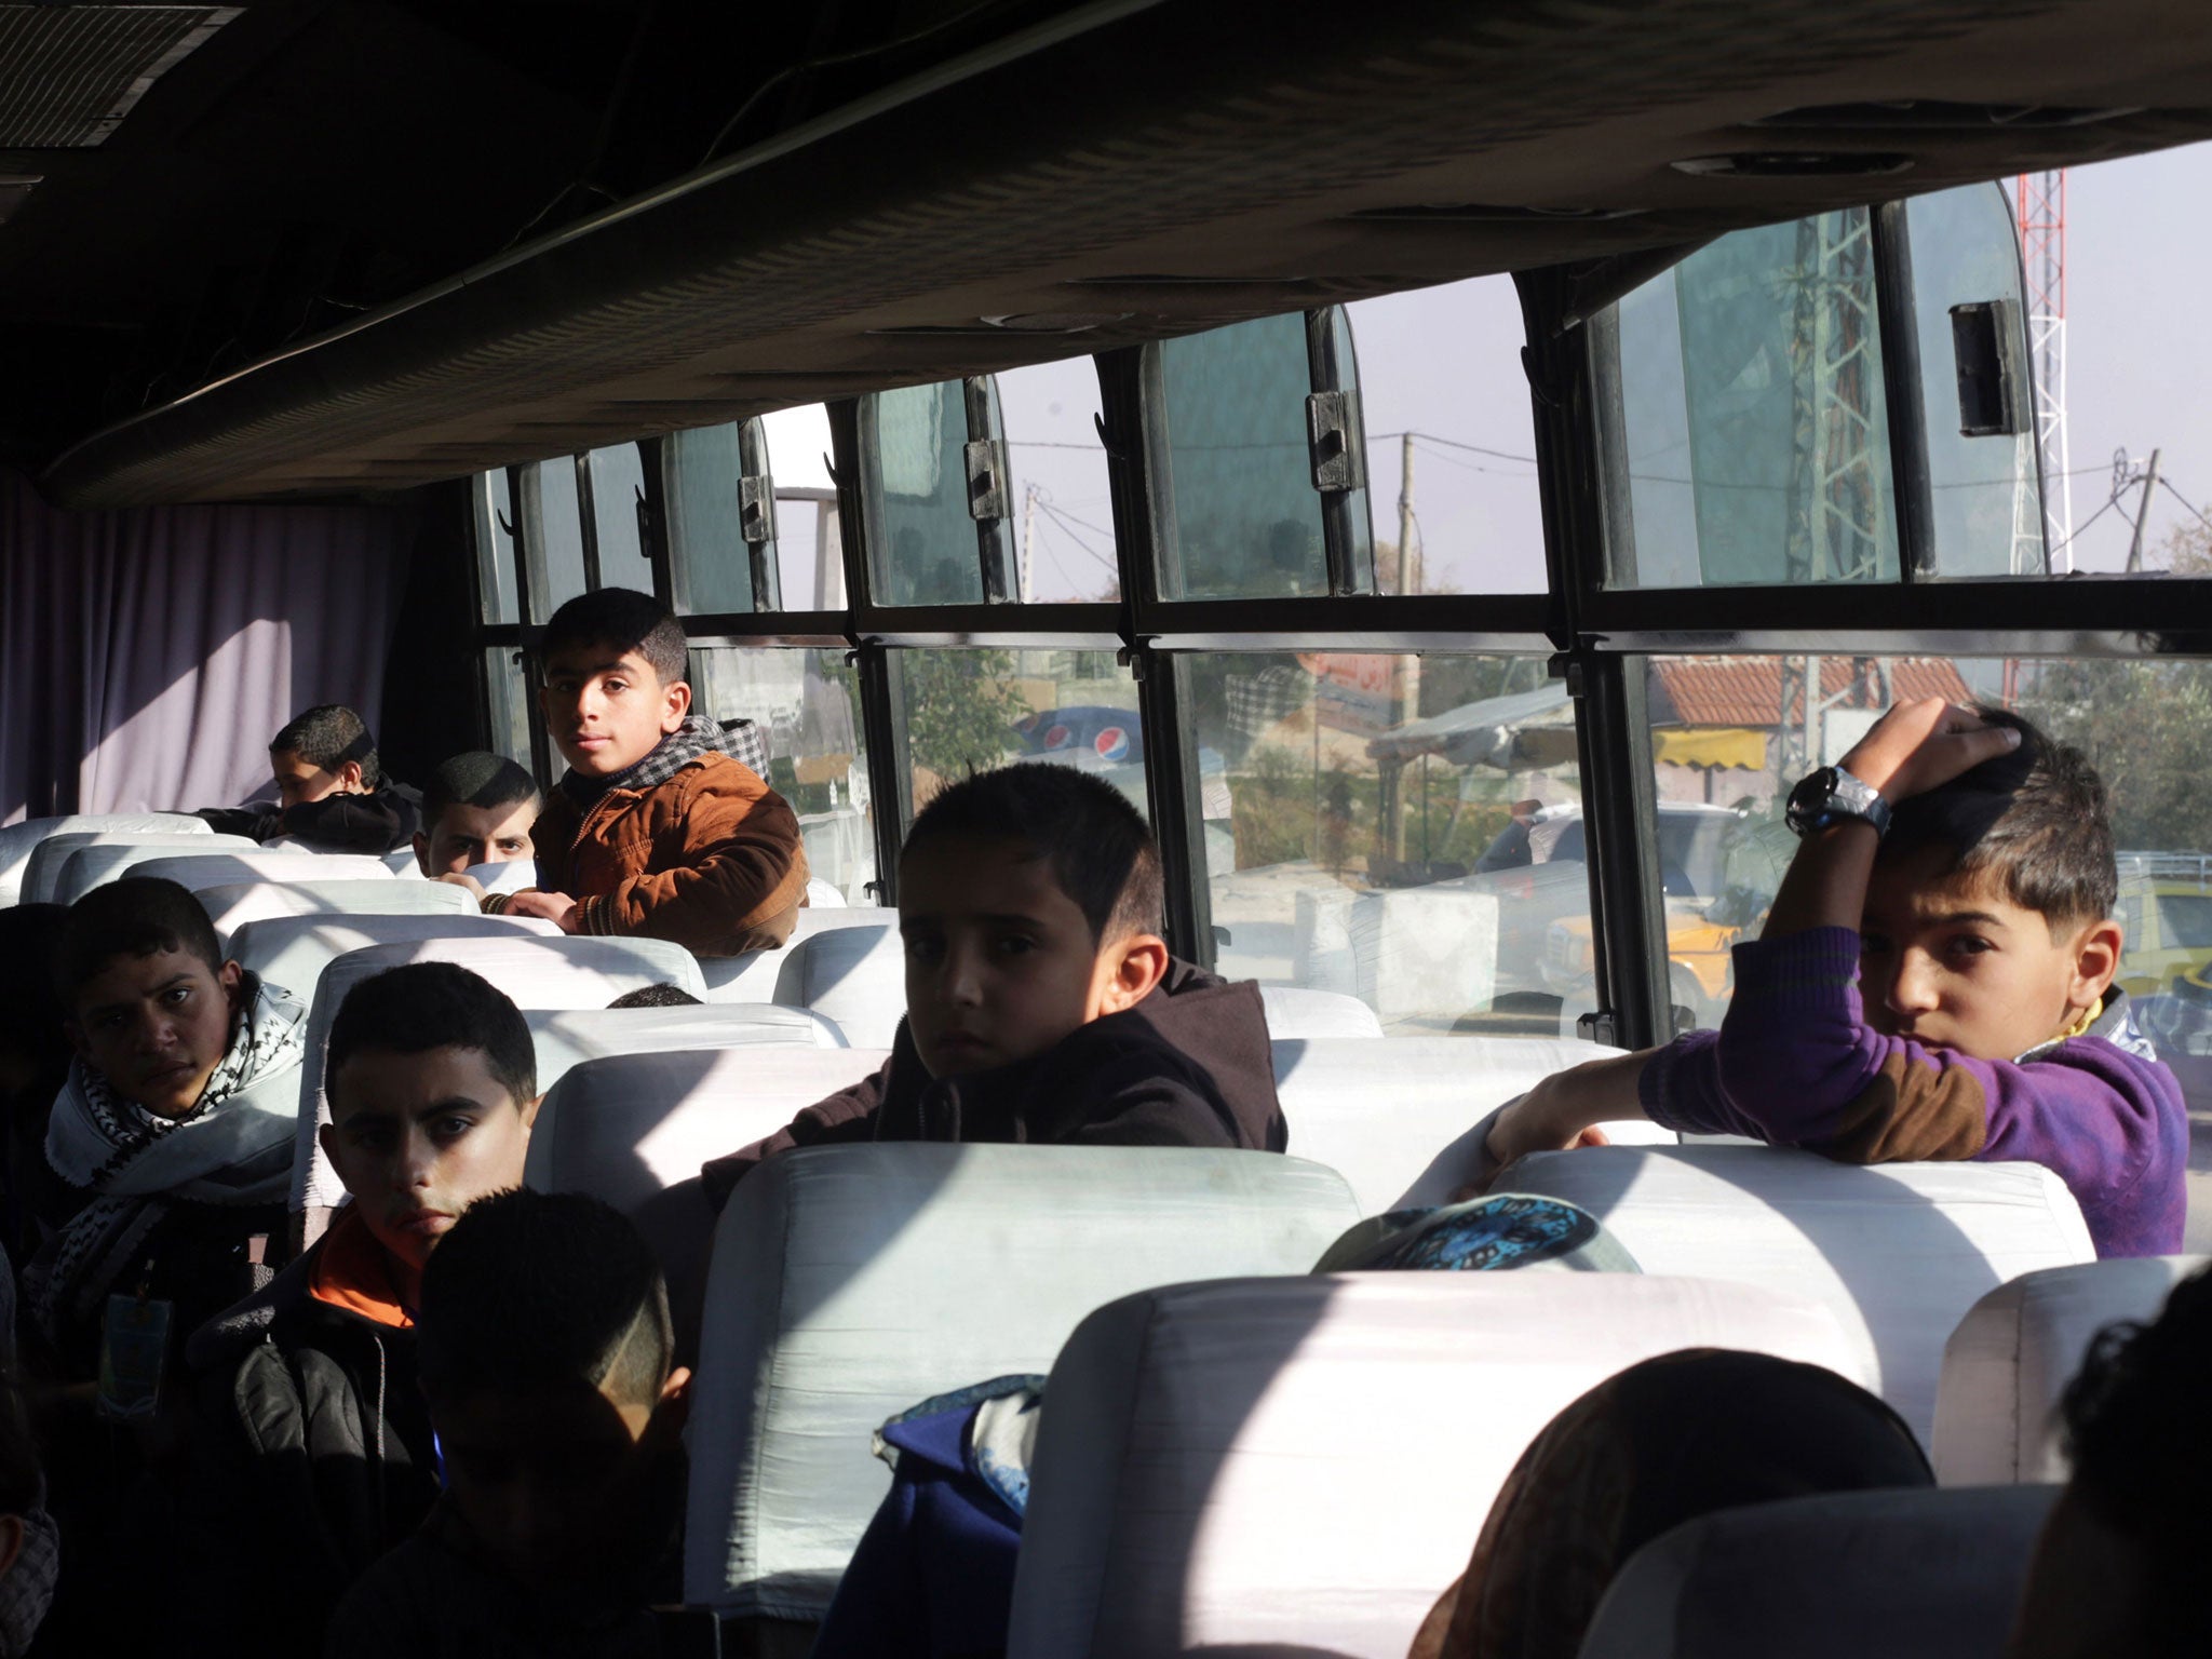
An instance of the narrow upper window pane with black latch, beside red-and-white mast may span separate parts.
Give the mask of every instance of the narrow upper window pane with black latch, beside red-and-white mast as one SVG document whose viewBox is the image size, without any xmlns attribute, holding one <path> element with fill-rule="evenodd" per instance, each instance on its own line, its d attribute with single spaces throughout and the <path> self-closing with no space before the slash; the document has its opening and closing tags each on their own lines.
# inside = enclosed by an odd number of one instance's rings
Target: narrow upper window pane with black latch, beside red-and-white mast
<svg viewBox="0 0 2212 1659">
<path fill-rule="evenodd" d="M 2020 234 L 2002 184 L 1942 190 L 1905 204 L 1913 327 L 1920 332 L 1920 405 L 1929 445 L 1929 509 L 1938 575 L 2042 575 L 2044 513 L 2035 489 L 2035 418 L 2017 434 L 1960 431 L 1953 305 L 2006 301 L 2011 347 L 2024 367 L 2028 323 L 2020 294 Z M 2022 374 L 2022 389 L 2026 376 Z M 2028 403 L 2031 398 L 2022 398 Z"/>
</svg>

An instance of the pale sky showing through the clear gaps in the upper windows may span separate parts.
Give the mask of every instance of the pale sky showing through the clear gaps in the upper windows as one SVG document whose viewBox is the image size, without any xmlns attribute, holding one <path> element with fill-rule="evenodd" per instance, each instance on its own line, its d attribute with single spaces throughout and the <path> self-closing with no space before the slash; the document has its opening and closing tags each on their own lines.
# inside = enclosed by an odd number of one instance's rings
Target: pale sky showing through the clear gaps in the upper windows
<svg viewBox="0 0 2212 1659">
<path fill-rule="evenodd" d="M 2212 385 L 2212 327 L 2194 314 L 2203 290 L 2194 204 L 2208 195 L 2212 144 L 2068 173 L 2066 416 L 2077 568 L 2126 566 L 2141 484 L 2108 507 L 2115 451 L 2130 473 L 2161 451 L 2168 487 L 2150 504 L 2152 557 L 2174 526 L 2197 522 L 2192 507 L 2212 515 L 2212 398 L 2199 392 Z M 1411 442 L 1422 591 L 1540 593 L 1542 509 L 1513 281 L 1480 276 L 1389 294 L 1358 301 L 1349 314 L 1376 540 L 1398 540 Z M 1044 602 L 1102 597 L 1113 582 L 1113 509 L 1093 429 L 1091 361 L 1015 369 L 998 383 L 1026 591 Z M 781 484 L 825 487 L 827 447 L 818 407 L 770 416 Z"/>
</svg>

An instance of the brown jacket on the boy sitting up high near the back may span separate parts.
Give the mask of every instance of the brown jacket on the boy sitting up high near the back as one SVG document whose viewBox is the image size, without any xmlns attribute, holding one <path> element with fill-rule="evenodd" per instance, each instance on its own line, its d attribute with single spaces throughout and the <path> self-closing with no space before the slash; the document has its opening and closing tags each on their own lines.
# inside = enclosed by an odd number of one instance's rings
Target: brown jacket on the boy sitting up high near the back
<svg viewBox="0 0 2212 1659">
<path fill-rule="evenodd" d="M 608 790 L 582 814 L 553 790 L 531 838 L 538 885 L 577 900 L 577 933 L 739 956 L 783 945 L 807 896 L 799 816 L 728 754 L 701 754 L 646 790 Z"/>
</svg>

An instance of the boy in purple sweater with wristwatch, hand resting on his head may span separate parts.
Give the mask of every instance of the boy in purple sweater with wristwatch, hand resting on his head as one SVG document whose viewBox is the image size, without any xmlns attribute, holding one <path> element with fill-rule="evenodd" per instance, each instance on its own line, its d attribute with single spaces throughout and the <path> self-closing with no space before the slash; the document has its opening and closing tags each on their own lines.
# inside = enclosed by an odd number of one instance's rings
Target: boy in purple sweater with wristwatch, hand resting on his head
<svg viewBox="0 0 2212 1659">
<path fill-rule="evenodd" d="M 1719 1031 L 1506 1106 L 1495 1170 L 1648 1117 L 1845 1164 L 2026 1159 L 2099 1256 L 2181 1250 L 2188 1113 L 2112 989 L 2104 783 L 2013 714 L 1900 703 L 1790 796 L 1803 836 Z"/>
</svg>

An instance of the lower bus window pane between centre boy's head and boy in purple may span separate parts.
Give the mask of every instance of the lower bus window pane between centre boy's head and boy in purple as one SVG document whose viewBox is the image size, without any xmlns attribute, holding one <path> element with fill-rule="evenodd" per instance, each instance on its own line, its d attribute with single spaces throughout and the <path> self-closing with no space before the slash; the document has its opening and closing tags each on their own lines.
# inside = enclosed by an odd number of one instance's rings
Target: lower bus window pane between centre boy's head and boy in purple
<svg viewBox="0 0 2212 1659">
<path fill-rule="evenodd" d="M 1179 672 L 1223 973 L 1345 991 L 1394 1035 L 1553 1035 L 1546 931 L 1588 918 L 1590 887 L 1573 703 L 1542 661 L 1197 655 Z"/>
</svg>

